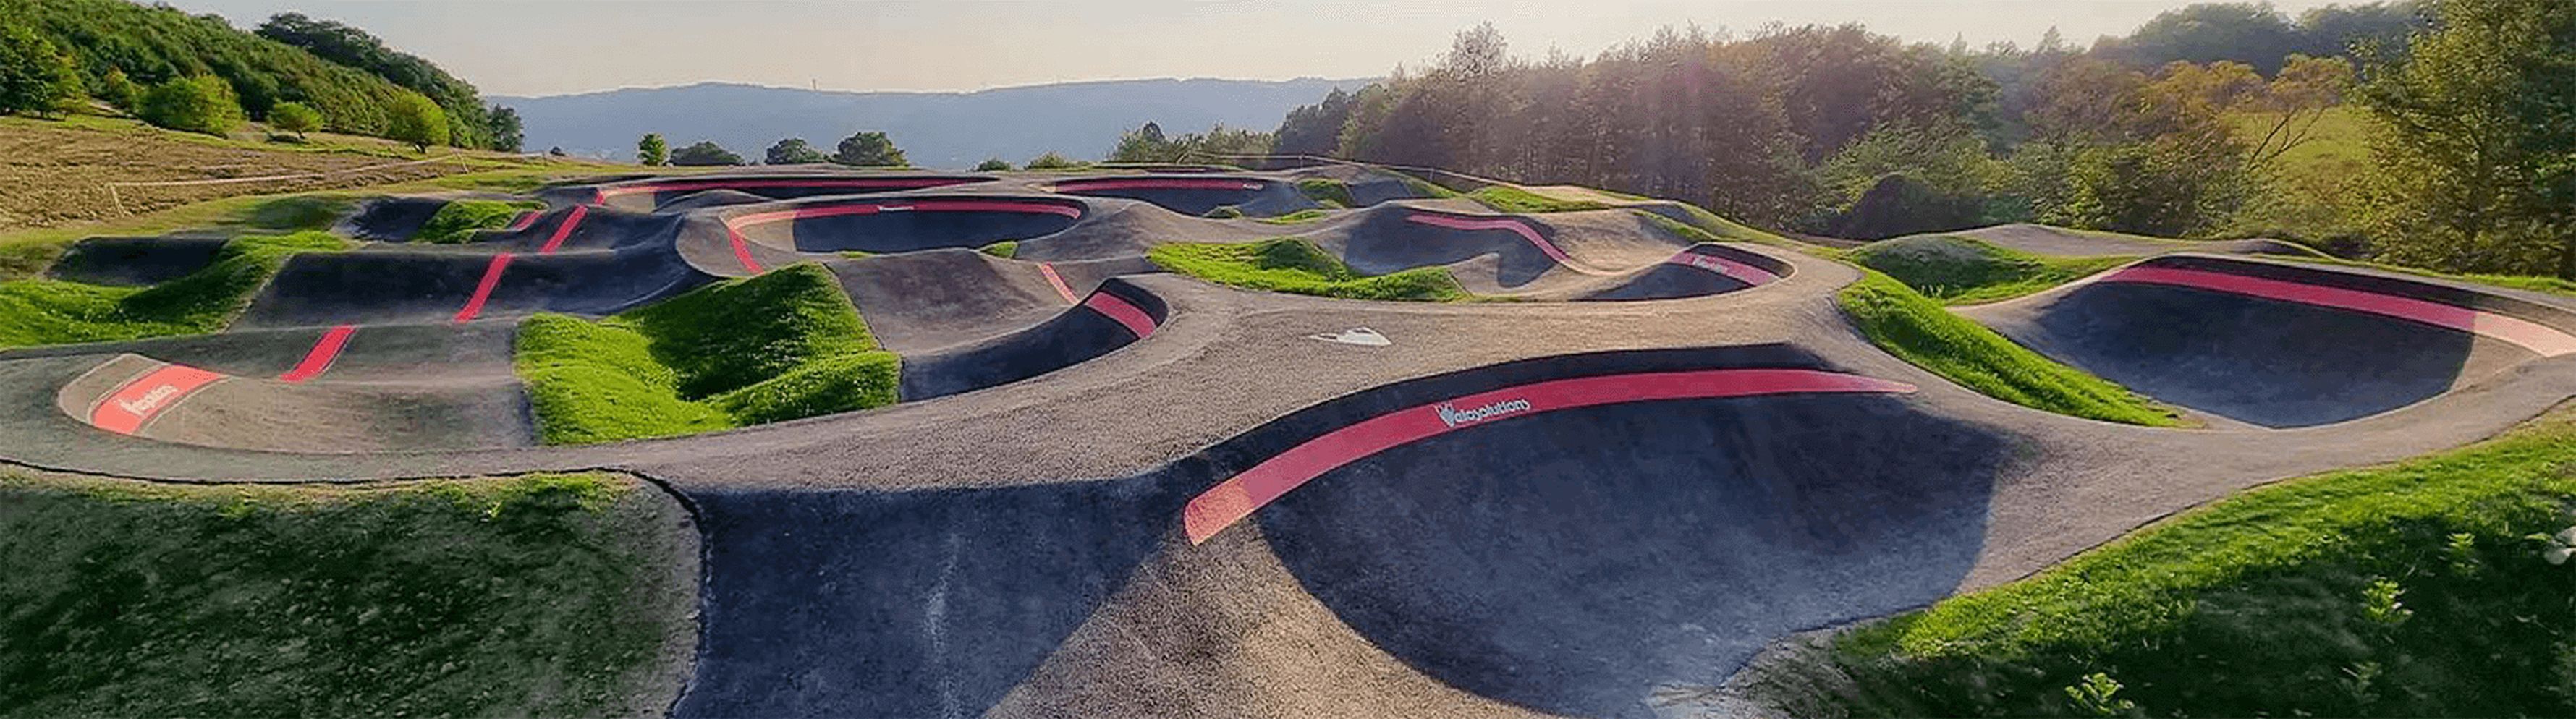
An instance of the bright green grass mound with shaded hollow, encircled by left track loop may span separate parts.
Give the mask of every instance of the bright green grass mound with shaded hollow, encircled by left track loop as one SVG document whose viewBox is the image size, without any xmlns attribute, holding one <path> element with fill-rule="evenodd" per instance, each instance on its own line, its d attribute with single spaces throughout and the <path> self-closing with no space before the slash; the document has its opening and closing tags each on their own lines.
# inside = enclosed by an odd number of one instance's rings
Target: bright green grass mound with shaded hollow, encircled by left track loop
<svg viewBox="0 0 2576 719">
<path fill-rule="evenodd" d="M 546 443 L 685 436 L 894 405 L 902 371 L 894 353 L 876 348 L 840 281 L 811 263 L 600 322 L 528 317 L 515 363 Z"/>
</svg>

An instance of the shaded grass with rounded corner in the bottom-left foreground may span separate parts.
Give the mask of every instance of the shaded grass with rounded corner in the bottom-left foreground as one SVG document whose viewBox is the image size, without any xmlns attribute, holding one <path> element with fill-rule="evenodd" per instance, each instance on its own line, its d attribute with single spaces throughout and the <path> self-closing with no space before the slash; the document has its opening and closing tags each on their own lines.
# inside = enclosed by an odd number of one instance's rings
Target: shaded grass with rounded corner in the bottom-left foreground
<svg viewBox="0 0 2576 719">
<path fill-rule="evenodd" d="M 636 479 L 0 472 L 0 716 L 659 714 L 685 510 Z"/>
</svg>

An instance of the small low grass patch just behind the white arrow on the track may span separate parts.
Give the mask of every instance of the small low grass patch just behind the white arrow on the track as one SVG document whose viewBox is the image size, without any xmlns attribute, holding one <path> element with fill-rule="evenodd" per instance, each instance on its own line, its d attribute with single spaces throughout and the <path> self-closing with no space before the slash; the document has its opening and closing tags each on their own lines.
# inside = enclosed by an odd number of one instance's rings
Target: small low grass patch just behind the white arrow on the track
<svg viewBox="0 0 2576 719">
<path fill-rule="evenodd" d="M 1473 299 L 1448 268 L 1412 268 L 1388 276 L 1360 276 L 1314 242 L 1296 237 L 1249 245 L 1159 245 L 1146 258 L 1164 271 L 1193 278 L 1337 299 L 1461 302 Z"/>
</svg>

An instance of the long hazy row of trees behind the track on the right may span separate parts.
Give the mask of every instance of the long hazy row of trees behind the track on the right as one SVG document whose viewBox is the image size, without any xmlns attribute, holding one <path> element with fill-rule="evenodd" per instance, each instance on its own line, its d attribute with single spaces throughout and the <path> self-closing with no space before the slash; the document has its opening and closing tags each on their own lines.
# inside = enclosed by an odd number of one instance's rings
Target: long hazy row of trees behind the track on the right
<svg viewBox="0 0 2576 719">
<path fill-rule="evenodd" d="M 2571 82 L 2576 3 L 2192 5 L 2092 49 L 1765 26 L 1525 59 L 1479 26 L 1430 67 L 1291 111 L 1273 152 L 1837 237 L 2050 222 L 2576 276 Z M 2372 173 L 2285 170 L 2329 119 L 2372 129 Z"/>
</svg>

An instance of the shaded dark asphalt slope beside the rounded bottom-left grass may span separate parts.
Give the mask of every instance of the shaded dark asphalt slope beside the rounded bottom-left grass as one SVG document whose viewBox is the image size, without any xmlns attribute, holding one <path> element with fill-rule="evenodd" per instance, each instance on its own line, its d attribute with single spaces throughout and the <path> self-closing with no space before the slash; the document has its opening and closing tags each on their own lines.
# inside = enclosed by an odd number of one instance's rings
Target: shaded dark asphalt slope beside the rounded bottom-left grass
<svg viewBox="0 0 2576 719">
<path fill-rule="evenodd" d="M 984 714 L 1126 585 L 1182 490 L 693 492 L 706 629 L 672 714 Z"/>
</svg>

